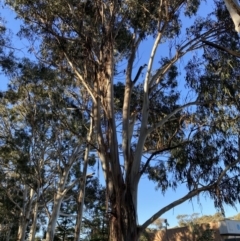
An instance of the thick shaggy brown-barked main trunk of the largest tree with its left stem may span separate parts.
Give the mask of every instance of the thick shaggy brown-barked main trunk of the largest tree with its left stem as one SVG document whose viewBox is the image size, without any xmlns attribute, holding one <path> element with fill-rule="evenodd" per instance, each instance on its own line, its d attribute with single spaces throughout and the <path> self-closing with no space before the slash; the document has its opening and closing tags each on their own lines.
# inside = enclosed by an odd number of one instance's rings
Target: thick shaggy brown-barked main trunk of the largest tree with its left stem
<svg viewBox="0 0 240 241">
<path fill-rule="evenodd" d="M 123 173 L 119 161 L 117 128 L 114 115 L 114 93 L 113 93 L 113 46 L 111 37 L 109 43 L 105 42 L 106 50 L 103 50 L 103 60 L 105 69 L 100 73 L 99 85 L 103 88 L 104 106 L 106 120 L 107 120 L 107 138 L 106 146 L 108 155 L 105 159 L 107 172 L 106 184 L 111 179 L 113 182 L 113 190 L 109 191 L 110 202 L 110 237 L 111 241 L 137 241 L 137 220 L 136 210 L 132 197 L 131 179 L 126 178 L 124 182 Z M 104 143 L 98 143 L 100 146 Z M 100 157 L 101 158 L 101 157 Z M 129 159 L 130 160 L 130 159 Z M 131 173 L 132 159 L 129 161 L 128 175 Z"/>
</svg>

